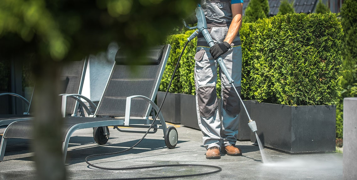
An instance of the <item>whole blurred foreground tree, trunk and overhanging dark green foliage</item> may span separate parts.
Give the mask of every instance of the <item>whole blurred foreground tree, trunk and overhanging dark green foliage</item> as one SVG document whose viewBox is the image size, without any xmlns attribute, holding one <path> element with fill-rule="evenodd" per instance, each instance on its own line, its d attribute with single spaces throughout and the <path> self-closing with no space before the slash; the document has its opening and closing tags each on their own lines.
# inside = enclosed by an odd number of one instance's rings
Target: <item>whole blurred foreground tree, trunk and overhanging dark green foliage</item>
<svg viewBox="0 0 357 180">
<path fill-rule="evenodd" d="M 66 179 L 61 156 L 58 71 L 115 41 L 132 61 L 161 44 L 196 0 L 1 0 L 0 58 L 35 54 L 35 132 L 39 179 Z M 25 61 L 27 59 L 24 59 Z"/>
</svg>

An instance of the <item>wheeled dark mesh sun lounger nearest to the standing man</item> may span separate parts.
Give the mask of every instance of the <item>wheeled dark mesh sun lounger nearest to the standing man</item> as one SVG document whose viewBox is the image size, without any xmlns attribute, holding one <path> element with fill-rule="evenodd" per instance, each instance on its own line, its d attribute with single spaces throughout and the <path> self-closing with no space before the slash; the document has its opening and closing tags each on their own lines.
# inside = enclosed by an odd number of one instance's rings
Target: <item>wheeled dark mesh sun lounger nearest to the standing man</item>
<svg viewBox="0 0 357 180">
<path fill-rule="evenodd" d="M 113 66 L 99 105 L 95 113 L 91 115 L 92 117 L 64 117 L 62 126 L 64 160 L 70 136 L 75 130 L 95 128 L 94 139 L 102 144 L 109 139 L 109 129 L 106 126 L 141 128 L 150 126 L 153 121 L 150 119 L 151 109 L 155 109 L 156 112 L 159 110 L 154 100 L 170 49 L 170 45 L 150 49 L 147 55 L 149 63 L 135 65 L 135 67 L 127 65 L 126 57 L 120 51 L 117 52 L 116 64 Z M 133 70 L 136 72 L 134 75 Z M 69 94 L 64 99 L 67 97 L 80 101 L 83 96 Z M 152 128 L 154 132 L 162 129 L 166 146 L 174 148 L 177 143 L 177 131 L 173 126 L 166 128 L 161 113 L 159 117 L 160 120 L 155 120 Z M 0 161 L 4 158 L 6 142 L 9 138 L 32 138 L 31 123 L 32 120 L 17 121 L 7 127 L 1 139 Z M 21 133 L 19 133 L 20 130 Z"/>
</svg>

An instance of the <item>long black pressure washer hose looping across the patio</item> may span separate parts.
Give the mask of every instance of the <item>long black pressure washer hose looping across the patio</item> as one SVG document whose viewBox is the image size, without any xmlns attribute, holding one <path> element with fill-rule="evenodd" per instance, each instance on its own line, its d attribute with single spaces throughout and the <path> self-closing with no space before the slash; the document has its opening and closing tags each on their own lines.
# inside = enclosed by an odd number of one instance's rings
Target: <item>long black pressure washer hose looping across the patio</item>
<svg viewBox="0 0 357 180">
<path fill-rule="evenodd" d="M 105 156 L 105 155 L 114 155 L 114 154 L 120 154 L 120 153 L 129 151 L 130 149 L 132 149 L 132 148 L 134 148 L 135 146 L 137 146 L 142 140 L 144 140 L 145 136 L 149 133 L 150 129 L 151 129 L 152 126 L 154 125 L 157 116 L 159 116 L 159 113 L 160 113 L 160 110 L 161 110 L 161 108 L 162 108 L 162 105 L 164 105 L 164 101 L 165 101 L 165 99 L 166 99 L 167 93 L 169 92 L 170 86 L 171 86 L 171 84 L 172 84 L 172 80 L 174 79 L 174 76 L 175 76 L 175 72 L 176 72 L 176 70 L 177 70 L 177 68 L 178 68 L 178 65 L 179 65 L 179 63 L 180 63 L 182 54 L 183 54 L 183 52 L 185 51 L 188 42 L 190 42 L 190 41 L 187 41 L 187 42 L 186 42 L 185 46 L 184 46 L 183 49 L 182 49 L 182 52 L 181 52 L 180 57 L 178 57 L 178 61 L 177 61 L 175 70 L 174 70 L 174 72 L 172 73 L 171 80 L 170 80 L 170 83 L 169 83 L 169 87 L 167 87 L 166 94 L 165 94 L 165 96 L 164 96 L 164 99 L 162 100 L 162 103 L 161 103 L 161 105 L 160 105 L 159 111 L 156 113 L 156 116 L 155 116 L 154 120 L 152 121 L 150 127 L 147 129 L 147 131 L 146 131 L 146 133 L 144 134 L 144 136 L 142 136 L 141 139 L 140 139 L 136 144 L 134 144 L 133 146 L 129 147 L 128 149 L 125 149 L 125 150 L 122 150 L 122 151 L 119 151 L 119 152 L 112 152 L 112 153 L 105 153 L 105 154 L 94 154 L 94 155 L 87 156 L 86 159 L 85 159 L 85 161 L 87 162 L 88 165 L 90 165 L 90 166 L 92 166 L 92 167 L 96 167 L 96 168 L 98 168 L 98 169 L 105 169 L 105 170 L 131 170 L 131 169 L 146 169 L 146 168 L 154 168 L 154 167 L 171 167 L 171 166 L 188 166 L 188 167 L 200 166 L 200 167 L 212 167 L 212 168 L 217 169 L 217 170 L 215 170 L 215 171 L 204 172 L 204 173 L 197 173 L 197 174 L 175 175 L 175 176 L 156 176 L 156 177 L 119 178 L 120 180 L 122 180 L 122 179 L 129 180 L 129 179 L 163 179 L 163 178 L 191 177 L 191 176 L 201 176 L 201 175 L 214 174 L 214 173 L 217 173 L 217 172 L 222 171 L 222 168 L 221 168 L 221 167 L 212 166 L 212 165 L 203 165 L 203 164 L 168 164 L 168 165 L 154 165 L 154 166 L 141 166 L 141 167 L 114 167 L 114 168 L 113 168 L 113 167 L 101 167 L 101 166 L 97 166 L 97 165 L 94 165 L 94 164 L 92 164 L 92 163 L 90 163 L 90 162 L 88 161 L 88 159 L 89 159 L 90 157 Z M 119 179 L 115 179 L 115 180 L 119 180 Z M 111 179 L 111 180 L 114 180 L 114 179 Z"/>
</svg>

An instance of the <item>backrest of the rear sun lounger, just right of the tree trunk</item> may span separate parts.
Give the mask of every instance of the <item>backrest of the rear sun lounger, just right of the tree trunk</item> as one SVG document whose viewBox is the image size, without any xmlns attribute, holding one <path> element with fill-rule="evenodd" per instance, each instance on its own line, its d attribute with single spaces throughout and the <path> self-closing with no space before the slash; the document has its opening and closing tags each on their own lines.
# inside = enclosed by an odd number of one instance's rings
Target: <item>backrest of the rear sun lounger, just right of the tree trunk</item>
<svg viewBox="0 0 357 180">
<path fill-rule="evenodd" d="M 88 59 L 80 61 L 65 62 L 62 66 L 60 79 L 63 82 L 62 94 L 81 94 L 84 76 L 87 70 Z M 66 114 L 75 114 L 79 103 L 69 98 L 67 99 Z"/>
</svg>

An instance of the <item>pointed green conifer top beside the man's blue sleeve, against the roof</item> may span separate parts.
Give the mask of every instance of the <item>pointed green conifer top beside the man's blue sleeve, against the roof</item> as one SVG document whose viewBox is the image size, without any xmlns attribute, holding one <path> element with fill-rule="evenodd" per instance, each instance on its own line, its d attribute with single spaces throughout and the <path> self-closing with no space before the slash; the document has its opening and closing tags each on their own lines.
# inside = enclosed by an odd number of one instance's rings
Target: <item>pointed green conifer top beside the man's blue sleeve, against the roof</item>
<svg viewBox="0 0 357 180">
<path fill-rule="evenodd" d="M 258 19 L 266 18 L 267 14 L 264 11 L 262 5 L 263 4 L 261 4 L 261 0 L 251 0 L 247 6 L 247 9 L 245 10 L 243 23 L 254 23 Z"/>
</svg>

